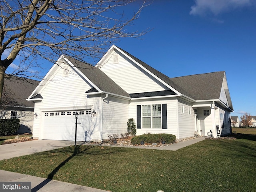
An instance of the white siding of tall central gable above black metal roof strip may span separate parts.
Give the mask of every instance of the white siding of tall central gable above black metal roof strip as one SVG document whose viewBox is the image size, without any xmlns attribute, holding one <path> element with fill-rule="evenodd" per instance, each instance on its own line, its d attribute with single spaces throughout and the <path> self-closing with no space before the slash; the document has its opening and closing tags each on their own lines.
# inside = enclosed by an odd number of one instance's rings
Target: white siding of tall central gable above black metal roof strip
<svg viewBox="0 0 256 192">
<path fill-rule="evenodd" d="M 113 63 L 113 55 L 110 54 L 105 60 L 105 63 L 100 67 L 100 70 L 129 94 L 168 89 L 121 53 L 116 52 L 115 54 L 120 54 L 118 56 L 118 64 Z"/>
</svg>

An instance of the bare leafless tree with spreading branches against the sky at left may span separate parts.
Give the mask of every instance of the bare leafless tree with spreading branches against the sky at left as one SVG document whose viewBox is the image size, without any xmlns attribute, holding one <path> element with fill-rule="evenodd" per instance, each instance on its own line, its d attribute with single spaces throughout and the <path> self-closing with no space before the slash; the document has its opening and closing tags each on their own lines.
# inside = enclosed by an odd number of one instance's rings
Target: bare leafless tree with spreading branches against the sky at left
<svg viewBox="0 0 256 192">
<path fill-rule="evenodd" d="M 119 38 L 144 35 L 148 29 L 128 30 L 149 5 L 139 1 L 137 10 L 124 12 L 123 7 L 134 1 L 0 0 L 0 98 L 6 69 L 17 57 L 23 63 L 14 73 L 26 74 L 43 67 L 35 62 L 38 58 L 51 62 L 61 54 L 81 60 L 100 58 Z"/>
</svg>

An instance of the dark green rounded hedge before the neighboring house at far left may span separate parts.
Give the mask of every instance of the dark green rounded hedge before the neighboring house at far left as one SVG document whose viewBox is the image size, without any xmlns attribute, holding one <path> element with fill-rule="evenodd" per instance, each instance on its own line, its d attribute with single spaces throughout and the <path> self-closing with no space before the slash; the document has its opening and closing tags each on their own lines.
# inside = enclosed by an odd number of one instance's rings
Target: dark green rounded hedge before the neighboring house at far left
<svg viewBox="0 0 256 192">
<path fill-rule="evenodd" d="M 19 128 L 19 119 L 0 119 L 0 136 L 14 134 Z"/>
</svg>

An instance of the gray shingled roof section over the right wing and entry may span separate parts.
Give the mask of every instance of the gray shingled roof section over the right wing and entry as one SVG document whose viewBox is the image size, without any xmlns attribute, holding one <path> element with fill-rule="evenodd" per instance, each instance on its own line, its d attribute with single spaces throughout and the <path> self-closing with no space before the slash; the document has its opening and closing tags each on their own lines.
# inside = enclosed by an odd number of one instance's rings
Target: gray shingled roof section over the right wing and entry
<svg viewBox="0 0 256 192">
<path fill-rule="evenodd" d="M 170 78 L 195 100 L 219 99 L 224 71 Z"/>
</svg>

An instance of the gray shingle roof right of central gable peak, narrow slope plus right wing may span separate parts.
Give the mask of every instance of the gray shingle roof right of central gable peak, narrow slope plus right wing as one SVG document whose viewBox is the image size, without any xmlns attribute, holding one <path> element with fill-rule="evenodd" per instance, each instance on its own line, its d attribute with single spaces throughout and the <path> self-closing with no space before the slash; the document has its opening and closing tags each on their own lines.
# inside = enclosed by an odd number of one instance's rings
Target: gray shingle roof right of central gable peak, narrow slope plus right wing
<svg viewBox="0 0 256 192">
<path fill-rule="evenodd" d="M 224 78 L 223 71 L 169 78 L 168 76 L 162 74 L 158 70 L 152 68 L 148 64 L 142 62 L 138 58 L 129 54 L 122 48 L 119 49 L 122 50 L 128 56 L 130 56 L 132 59 L 134 59 L 136 62 L 141 64 L 144 68 L 155 74 L 158 78 L 166 82 L 172 88 L 180 92 L 181 94 L 189 96 L 190 98 L 193 98 L 195 100 L 208 100 L 220 98 L 220 91 L 222 87 L 222 81 Z"/>
</svg>

